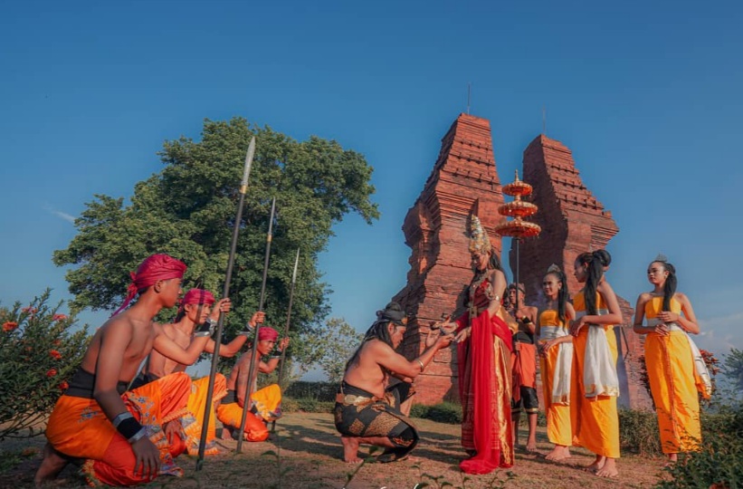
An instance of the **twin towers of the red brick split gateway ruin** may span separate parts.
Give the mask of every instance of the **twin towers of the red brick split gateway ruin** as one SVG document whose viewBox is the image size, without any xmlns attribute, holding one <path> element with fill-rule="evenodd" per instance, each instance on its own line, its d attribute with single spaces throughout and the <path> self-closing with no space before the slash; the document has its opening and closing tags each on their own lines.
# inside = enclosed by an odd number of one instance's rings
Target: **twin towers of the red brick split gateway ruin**
<svg viewBox="0 0 743 489">
<path fill-rule="evenodd" d="M 619 228 L 611 212 L 583 184 L 570 149 L 561 142 L 539 135 L 524 150 L 520 174 L 534 187 L 533 195 L 526 200 L 537 205 L 539 211 L 529 221 L 540 225 L 542 233 L 520 243 L 519 280 L 526 286 L 527 302 L 541 306 L 541 283 L 548 266 L 559 265 L 566 271 L 569 290 L 578 291 L 580 286 L 572 273 L 576 256 L 605 248 Z M 439 321 L 443 313 L 459 314 L 464 309 L 464 291 L 472 280 L 466 235 L 472 212 L 480 216 L 492 245 L 501 254 L 500 236 L 494 229 L 505 220 L 497 210 L 503 202 L 490 121 L 460 114 L 443 137 L 433 171 L 403 224 L 405 244 L 412 250 L 410 271 L 405 288 L 394 300 L 414 316 L 402 345 L 407 358 L 414 358 L 424 349 L 432 321 Z M 514 245 L 512 242 L 509 252 L 511 270 L 516 267 Z M 632 307 L 623 298 L 618 299 L 624 316 L 624 323 L 614 328 L 622 389 L 619 402 L 626 407 L 647 408 L 651 401 L 640 381 L 643 345 L 632 331 Z M 458 400 L 456 359 L 452 356 L 456 356 L 454 349 L 436 354 L 416 380 L 415 402 Z M 538 393 L 541 398 L 541 388 Z"/>
</svg>

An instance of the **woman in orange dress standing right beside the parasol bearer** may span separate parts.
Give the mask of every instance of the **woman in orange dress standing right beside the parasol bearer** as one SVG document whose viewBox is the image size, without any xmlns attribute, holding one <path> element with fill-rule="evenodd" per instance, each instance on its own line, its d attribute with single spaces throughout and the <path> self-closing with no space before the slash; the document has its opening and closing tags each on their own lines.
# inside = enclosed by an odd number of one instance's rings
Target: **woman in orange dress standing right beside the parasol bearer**
<svg viewBox="0 0 743 489">
<path fill-rule="evenodd" d="M 573 304 L 567 302 L 567 277 L 553 264 L 542 281 L 547 307 L 539 313 L 537 335 L 542 372 L 547 436 L 555 444 L 548 460 L 570 456 L 573 431 L 570 424 L 570 371 L 573 368 L 573 337 L 567 321 L 576 318 Z"/>
</svg>

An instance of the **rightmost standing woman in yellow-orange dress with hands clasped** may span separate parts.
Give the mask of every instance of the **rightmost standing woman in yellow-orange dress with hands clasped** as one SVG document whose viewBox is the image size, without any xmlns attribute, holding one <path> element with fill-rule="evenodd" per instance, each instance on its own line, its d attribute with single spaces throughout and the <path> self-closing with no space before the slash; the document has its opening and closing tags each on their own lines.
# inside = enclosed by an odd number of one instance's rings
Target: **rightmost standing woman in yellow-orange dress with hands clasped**
<svg viewBox="0 0 743 489">
<path fill-rule="evenodd" d="M 653 393 L 661 446 L 670 463 L 679 452 L 699 450 L 701 440 L 699 391 L 710 397 L 710 375 L 700 359 L 701 375 L 695 369 L 699 349 L 688 333 L 699 334 L 700 327 L 691 302 L 676 292 L 676 270 L 659 255 L 648 266 L 652 292 L 637 298 L 634 331 L 646 334 L 645 364 Z M 681 315 L 683 314 L 683 315 Z M 643 326 L 643 318 L 647 323 Z M 696 354 L 695 354 L 696 353 Z M 706 374 L 706 375 L 705 375 Z M 706 382 L 705 382 L 706 378 Z"/>
</svg>

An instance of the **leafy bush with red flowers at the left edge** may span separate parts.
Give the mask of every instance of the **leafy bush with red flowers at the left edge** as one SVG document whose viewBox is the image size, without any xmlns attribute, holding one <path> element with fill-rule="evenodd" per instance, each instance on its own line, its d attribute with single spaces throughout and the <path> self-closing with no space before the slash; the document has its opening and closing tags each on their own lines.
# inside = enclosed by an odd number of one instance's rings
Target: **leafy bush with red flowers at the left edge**
<svg viewBox="0 0 743 489">
<path fill-rule="evenodd" d="M 0 307 L 0 440 L 41 433 L 33 426 L 52 411 L 88 347 L 87 325 L 72 332 L 77 320 L 58 312 L 62 302 L 47 305 L 49 295 Z"/>
</svg>

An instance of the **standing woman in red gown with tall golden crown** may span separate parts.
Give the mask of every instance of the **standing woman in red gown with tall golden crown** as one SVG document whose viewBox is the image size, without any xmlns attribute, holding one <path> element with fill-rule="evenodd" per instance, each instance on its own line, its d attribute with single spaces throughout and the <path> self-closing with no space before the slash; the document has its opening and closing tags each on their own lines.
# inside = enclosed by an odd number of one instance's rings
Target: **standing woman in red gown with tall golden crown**
<svg viewBox="0 0 743 489">
<path fill-rule="evenodd" d="M 474 277 L 467 290 L 468 311 L 456 326 L 462 446 L 472 455 L 460 463 L 468 474 L 489 474 L 513 465 L 510 423 L 511 332 L 501 315 L 506 277 L 477 216 L 471 217 L 470 254 Z"/>
</svg>

